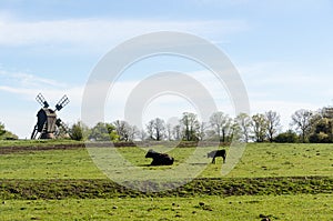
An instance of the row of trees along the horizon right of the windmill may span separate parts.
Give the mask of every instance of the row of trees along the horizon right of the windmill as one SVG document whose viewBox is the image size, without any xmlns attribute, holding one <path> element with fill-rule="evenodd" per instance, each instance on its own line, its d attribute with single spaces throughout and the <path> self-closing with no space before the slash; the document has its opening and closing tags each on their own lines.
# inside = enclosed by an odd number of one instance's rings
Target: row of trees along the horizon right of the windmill
<svg viewBox="0 0 333 221">
<path fill-rule="evenodd" d="M 183 112 L 178 123 L 161 118 L 150 120 L 139 130 L 123 120 L 99 122 L 88 128 L 81 121 L 70 128 L 75 140 L 95 141 L 220 141 L 231 142 L 333 142 L 333 108 L 317 111 L 300 109 L 291 115 L 290 129 L 282 131 L 280 114 L 275 111 L 235 118 L 218 111 L 208 122 L 201 122 L 195 113 Z"/>
</svg>

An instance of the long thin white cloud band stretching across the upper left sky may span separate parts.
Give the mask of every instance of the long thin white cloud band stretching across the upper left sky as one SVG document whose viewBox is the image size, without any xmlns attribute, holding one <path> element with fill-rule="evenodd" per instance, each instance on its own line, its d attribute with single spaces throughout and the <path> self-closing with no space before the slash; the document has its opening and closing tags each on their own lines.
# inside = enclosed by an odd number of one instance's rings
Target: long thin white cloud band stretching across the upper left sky
<svg viewBox="0 0 333 221">
<path fill-rule="evenodd" d="M 131 19 L 69 19 L 51 21 L 18 21 L 0 18 L 0 46 L 88 48 L 113 47 L 133 36 L 152 31 L 186 31 L 211 40 L 221 40 L 230 33 L 243 31 L 248 24 L 241 20 L 167 21 Z M 218 38 L 219 37 L 219 38 Z M 222 38 L 220 38 L 222 37 Z M 60 47 L 61 48 L 61 47 Z"/>
</svg>

